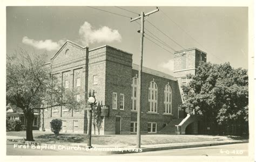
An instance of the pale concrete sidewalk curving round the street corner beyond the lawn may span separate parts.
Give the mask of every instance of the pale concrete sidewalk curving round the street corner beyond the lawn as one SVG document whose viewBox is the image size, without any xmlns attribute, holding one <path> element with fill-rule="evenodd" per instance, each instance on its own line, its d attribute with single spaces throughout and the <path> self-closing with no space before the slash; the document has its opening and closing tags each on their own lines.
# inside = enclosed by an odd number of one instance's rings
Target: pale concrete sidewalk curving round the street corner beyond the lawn
<svg viewBox="0 0 256 162">
<path fill-rule="evenodd" d="M 29 144 L 29 145 L 45 145 L 45 143 L 38 143 L 36 141 L 25 141 L 23 137 L 6 136 L 6 139 L 12 143 L 18 144 Z M 92 154 L 122 154 L 122 153 L 136 153 L 136 152 L 148 152 L 148 151 L 159 151 L 159 150 L 172 150 L 172 149 L 185 149 L 192 147 L 205 147 L 205 146 L 216 146 L 216 145 L 227 145 L 227 144 L 238 144 L 248 143 L 248 140 L 212 140 L 192 143 L 173 143 L 173 144 L 154 144 L 154 145 L 142 145 L 141 149 L 136 149 L 136 146 L 111 146 L 111 145 L 93 145 L 93 149 L 87 149 L 86 143 L 70 143 L 67 147 L 82 147 L 82 150 L 92 152 Z M 46 143 L 47 144 L 47 143 Z M 47 144 L 51 146 L 53 144 Z M 54 145 L 65 145 L 65 144 L 54 144 Z"/>
</svg>

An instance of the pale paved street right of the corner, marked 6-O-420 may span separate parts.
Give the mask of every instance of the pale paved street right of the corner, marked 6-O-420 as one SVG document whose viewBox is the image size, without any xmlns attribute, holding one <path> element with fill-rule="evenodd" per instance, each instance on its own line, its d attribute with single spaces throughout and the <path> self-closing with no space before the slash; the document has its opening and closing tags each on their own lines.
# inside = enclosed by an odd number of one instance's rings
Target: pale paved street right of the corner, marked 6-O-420
<svg viewBox="0 0 256 162">
<path fill-rule="evenodd" d="M 125 156 L 248 156 L 248 143 L 123 154 Z"/>
</svg>

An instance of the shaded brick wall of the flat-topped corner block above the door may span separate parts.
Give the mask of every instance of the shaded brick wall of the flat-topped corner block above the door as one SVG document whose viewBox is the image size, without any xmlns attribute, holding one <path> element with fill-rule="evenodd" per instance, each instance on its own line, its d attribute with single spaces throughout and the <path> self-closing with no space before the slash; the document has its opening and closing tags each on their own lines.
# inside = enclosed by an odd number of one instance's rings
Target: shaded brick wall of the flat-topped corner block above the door
<svg viewBox="0 0 256 162">
<path fill-rule="evenodd" d="M 121 116 L 121 134 L 130 133 L 132 55 L 107 46 L 105 104 L 110 117 L 105 117 L 105 134 L 116 132 L 116 116 Z M 117 110 L 112 109 L 112 95 L 117 93 Z M 124 110 L 120 110 L 120 93 L 124 94 Z"/>
</svg>

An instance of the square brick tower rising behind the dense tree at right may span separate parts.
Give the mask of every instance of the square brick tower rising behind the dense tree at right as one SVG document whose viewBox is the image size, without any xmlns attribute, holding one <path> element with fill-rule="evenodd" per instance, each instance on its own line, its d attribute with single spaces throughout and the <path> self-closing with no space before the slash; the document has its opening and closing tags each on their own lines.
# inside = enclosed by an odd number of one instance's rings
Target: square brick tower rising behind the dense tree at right
<svg viewBox="0 0 256 162">
<path fill-rule="evenodd" d="M 181 85 L 186 85 L 187 74 L 196 75 L 196 69 L 201 62 L 206 62 L 206 52 L 197 48 L 174 52 L 174 76 L 178 80 L 181 91 Z"/>
</svg>

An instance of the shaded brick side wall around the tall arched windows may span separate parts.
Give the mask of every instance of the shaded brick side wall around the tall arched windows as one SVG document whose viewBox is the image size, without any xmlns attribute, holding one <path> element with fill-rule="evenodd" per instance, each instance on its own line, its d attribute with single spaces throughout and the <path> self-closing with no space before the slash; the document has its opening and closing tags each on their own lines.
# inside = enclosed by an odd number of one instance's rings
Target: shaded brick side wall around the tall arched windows
<svg viewBox="0 0 256 162">
<path fill-rule="evenodd" d="M 138 75 L 137 70 L 132 70 L 132 77 L 136 77 Z M 154 80 L 158 87 L 158 102 L 157 102 L 157 113 L 151 113 L 149 111 L 149 86 L 150 82 Z M 164 89 L 165 86 L 169 83 L 172 89 L 172 115 L 165 114 L 165 105 L 164 105 Z M 149 73 L 142 73 L 142 133 L 147 132 L 147 123 L 148 122 L 156 122 L 157 123 L 157 131 L 163 129 L 164 124 L 169 123 L 172 119 L 178 118 L 178 104 L 181 104 L 181 96 L 179 93 L 179 86 L 177 81 L 154 76 Z M 137 112 L 131 112 L 131 121 L 137 121 Z"/>
</svg>

